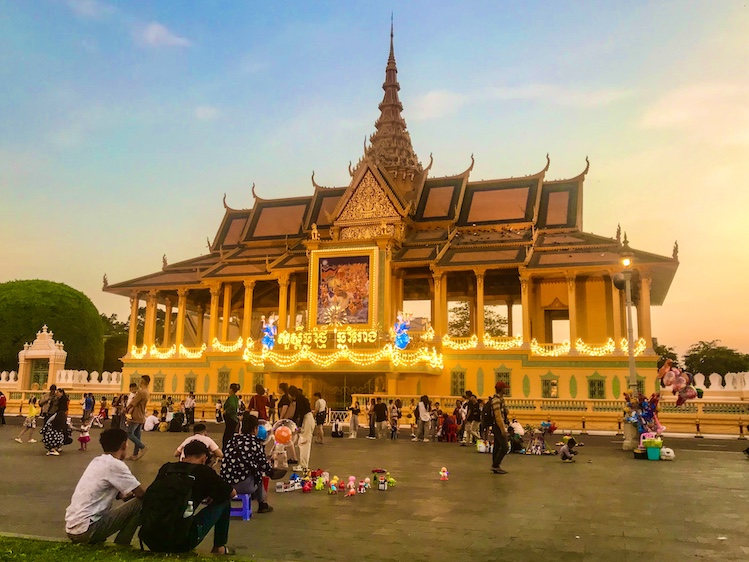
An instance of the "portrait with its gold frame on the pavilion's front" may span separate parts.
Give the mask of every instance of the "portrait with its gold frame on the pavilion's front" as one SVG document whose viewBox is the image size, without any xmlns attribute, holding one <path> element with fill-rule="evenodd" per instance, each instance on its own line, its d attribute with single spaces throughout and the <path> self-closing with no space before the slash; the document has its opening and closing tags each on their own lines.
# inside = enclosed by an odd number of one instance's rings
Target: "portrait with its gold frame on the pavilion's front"
<svg viewBox="0 0 749 562">
<path fill-rule="evenodd" d="M 376 248 L 316 250 L 310 259 L 310 328 L 376 324 Z"/>
</svg>

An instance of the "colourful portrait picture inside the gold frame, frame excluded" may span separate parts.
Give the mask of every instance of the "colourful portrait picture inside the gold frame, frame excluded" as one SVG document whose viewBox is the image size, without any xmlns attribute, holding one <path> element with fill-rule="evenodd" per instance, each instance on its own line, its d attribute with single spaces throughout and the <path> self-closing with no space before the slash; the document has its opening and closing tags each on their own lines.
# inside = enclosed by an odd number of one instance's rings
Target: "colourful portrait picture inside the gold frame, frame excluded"
<svg viewBox="0 0 749 562">
<path fill-rule="evenodd" d="M 318 280 L 318 324 L 369 324 L 370 256 L 321 257 Z"/>
</svg>

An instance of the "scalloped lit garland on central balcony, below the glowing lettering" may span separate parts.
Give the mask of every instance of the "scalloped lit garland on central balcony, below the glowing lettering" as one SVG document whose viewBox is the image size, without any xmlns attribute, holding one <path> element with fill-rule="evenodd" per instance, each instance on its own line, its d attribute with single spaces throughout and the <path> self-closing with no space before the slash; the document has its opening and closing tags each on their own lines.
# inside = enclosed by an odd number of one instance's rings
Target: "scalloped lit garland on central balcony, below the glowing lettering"
<svg viewBox="0 0 749 562">
<path fill-rule="evenodd" d="M 432 348 L 417 349 L 414 351 L 400 351 L 387 344 L 376 351 L 353 351 L 345 345 L 340 345 L 335 351 L 319 352 L 304 345 L 294 353 L 285 353 L 263 349 L 256 352 L 246 348 L 242 354 L 243 359 L 255 367 L 263 367 L 266 363 L 288 369 L 296 366 L 302 361 L 309 361 L 320 368 L 328 368 L 336 363 L 350 362 L 360 367 L 366 367 L 383 361 L 390 361 L 395 367 L 413 367 L 424 363 L 433 369 L 441 369 L 444 366 L 442 355 Z"/>
</svg>

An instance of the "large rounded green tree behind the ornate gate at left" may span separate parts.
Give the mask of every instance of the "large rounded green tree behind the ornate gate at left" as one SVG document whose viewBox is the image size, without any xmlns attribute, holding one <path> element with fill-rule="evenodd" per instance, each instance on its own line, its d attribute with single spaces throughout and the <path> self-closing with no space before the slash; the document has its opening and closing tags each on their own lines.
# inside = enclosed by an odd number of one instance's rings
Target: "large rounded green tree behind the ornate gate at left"
<svg viewBox="0 0 749 562">
<path fill-rule="evenodd" d="M 65 344 L 66 368 L 101 370 L 104 340 L 99 311 L 72 287 L 52 281 L 0 283 L 0 370 L 18 369 L 18 352 L 47 325 Z"/>
</svg>

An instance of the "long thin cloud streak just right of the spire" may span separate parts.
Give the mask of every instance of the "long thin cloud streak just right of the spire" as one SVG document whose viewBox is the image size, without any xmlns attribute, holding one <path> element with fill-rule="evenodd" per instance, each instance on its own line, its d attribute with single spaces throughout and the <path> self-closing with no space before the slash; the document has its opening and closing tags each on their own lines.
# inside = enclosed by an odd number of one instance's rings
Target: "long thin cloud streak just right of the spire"
<svg viewBox="0 0 749 562">
<path fill-rule="evenodd" d="M 463 106 L 489 101 L 536 101 L 569 107 L 602 107 L 632 95 L 632 90 L 584 90 L 555 84 L 497 86 L 472 94 L 434 90 L 416 100 L 414 116 L 417 120 L 435 119 L 453 113 Z"/>
</svg>

